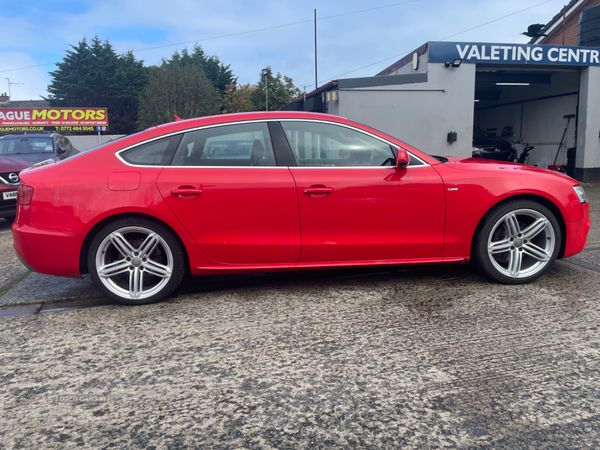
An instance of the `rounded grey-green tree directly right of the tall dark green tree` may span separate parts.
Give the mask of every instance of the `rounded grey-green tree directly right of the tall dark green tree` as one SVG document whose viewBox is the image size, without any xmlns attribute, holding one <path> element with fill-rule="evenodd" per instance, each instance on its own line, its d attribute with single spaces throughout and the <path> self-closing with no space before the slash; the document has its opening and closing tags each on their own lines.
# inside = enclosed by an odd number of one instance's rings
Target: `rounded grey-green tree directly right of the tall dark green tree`
<svg viewBox="0 0 600 450">
<path fill-rule="evenodd" d="M 162 64 L 141 95 L 139 128 L 219 113 L 219 91 L 196 65 Z"/>
</svg>

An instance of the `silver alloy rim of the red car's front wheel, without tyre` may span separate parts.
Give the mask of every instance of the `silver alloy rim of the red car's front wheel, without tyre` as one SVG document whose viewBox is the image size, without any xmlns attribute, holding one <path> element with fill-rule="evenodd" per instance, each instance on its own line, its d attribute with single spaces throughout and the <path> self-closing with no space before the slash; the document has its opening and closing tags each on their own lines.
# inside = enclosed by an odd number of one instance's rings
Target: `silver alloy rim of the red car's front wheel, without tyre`
<svg viewBox="0 0 600 450">
<path fill-rule="evenodd" d="M 543 270 L 556 247 L 554 227 L 533 209 L 504 215 L 492 228 L 487 251 L 494 268 L 510 278 L 527 278 Z"/>
</svg>

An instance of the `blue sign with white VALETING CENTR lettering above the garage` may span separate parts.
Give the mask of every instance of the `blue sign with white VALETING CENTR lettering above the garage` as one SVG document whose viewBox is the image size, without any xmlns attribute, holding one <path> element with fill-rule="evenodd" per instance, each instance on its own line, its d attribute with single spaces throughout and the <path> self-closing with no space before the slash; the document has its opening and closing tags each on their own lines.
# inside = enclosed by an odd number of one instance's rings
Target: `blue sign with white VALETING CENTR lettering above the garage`
<svg viewBox="0 0 600 450">
<path fill-rule="evenodd" d="M 600 49 L 564 45 L 490 44 L 480 42 L 430 42 L 429 62 L 460 58 L 476 64 L 550 64 L 600 66 Z"/>
</svg>

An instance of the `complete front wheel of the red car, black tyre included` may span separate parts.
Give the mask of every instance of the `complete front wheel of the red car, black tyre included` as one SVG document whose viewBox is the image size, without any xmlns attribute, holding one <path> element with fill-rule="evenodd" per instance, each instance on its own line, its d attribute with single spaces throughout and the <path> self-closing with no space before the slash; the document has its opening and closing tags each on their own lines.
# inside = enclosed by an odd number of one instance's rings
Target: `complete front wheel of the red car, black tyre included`
<svg viewBox="0 0 600 450">
<path fill-rule="evenodd" d="M 513 200 L 485 215 L 474 236 L 473 258 L 494 281 L 526 284 L 554 264 L 561 239 L 558 220 L 548 208 L 531 200 Z"/>
</svg>

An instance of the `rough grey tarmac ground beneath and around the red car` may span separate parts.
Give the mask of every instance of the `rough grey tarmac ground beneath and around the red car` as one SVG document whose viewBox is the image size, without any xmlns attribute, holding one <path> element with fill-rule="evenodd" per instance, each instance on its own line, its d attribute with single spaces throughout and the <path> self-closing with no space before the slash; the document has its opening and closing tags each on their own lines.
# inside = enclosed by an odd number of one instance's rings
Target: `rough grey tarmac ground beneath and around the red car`
<svg viewBox="0 0 600 450">
<path fill-rule="evenodd" d="M 580 255 L 196 279 L 125 307 L 0 220 L 0 449 L 600 448 L 600 186 Z"/>
</svg>

